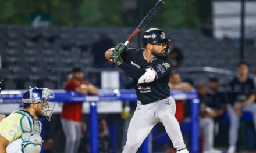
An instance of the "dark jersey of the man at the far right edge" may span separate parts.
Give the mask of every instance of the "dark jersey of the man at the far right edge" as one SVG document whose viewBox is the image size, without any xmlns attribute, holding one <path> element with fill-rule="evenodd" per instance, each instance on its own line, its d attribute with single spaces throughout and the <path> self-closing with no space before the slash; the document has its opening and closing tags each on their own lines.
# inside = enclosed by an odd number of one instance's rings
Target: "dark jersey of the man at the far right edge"
<svg viewBox="0 0 256 153">
<path fill-rule="evenodd" d="M 240 82 L 236 77 L 229 83 L 230 103 L 240 103 L 246 100 L 251 94 L 255 94 L 253 79 L 247 78 L 246 81 Z"/>
</svg>

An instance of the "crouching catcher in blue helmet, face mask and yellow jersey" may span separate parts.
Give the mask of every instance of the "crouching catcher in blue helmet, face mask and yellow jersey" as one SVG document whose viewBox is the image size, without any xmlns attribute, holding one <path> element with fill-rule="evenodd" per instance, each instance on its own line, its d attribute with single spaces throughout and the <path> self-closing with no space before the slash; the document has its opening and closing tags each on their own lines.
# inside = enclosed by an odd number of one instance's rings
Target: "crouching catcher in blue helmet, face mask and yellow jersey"
<svg viewBox="0 0 256 153">
<path fill-rule="evenodd" d="M 0 122 L 1 153 L 39 153 L 42 146 L 39 118 L 51 118 L 55 103 L 49 99 L 54 93 L 48 88 L 31 88 L 24 92 L 24 109 L 14 111 Z"/>
</svg>

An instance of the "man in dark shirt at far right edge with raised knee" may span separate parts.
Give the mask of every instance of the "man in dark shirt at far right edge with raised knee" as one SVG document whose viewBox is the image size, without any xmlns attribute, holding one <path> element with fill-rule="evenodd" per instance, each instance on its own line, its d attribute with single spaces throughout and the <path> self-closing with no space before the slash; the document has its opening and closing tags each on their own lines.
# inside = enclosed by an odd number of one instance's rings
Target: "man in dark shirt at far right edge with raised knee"
<svg viewBox="0 0 256 153">
<path fill-rule="evenodd" d="M 253 123 L 256 131 L 256 105 L 254 81 L 248 78 L 249 65 L 246 62 L 237 64 L 237 77 L 229 83 L 229 101 L 227 112 L 229 113 L 229 149 L 228 153 L 236 152 L 239 122 L 242 112 L 250 112 L 253 115 Z"/>
</svg>

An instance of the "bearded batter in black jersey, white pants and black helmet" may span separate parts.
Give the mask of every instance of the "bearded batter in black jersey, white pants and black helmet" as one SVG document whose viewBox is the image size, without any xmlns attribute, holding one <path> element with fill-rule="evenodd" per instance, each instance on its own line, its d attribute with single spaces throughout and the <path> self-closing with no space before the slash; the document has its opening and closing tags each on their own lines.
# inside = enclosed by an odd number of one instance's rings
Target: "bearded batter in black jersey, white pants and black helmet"
<svg viewBox="0 0 256 153">
<path fill-rule="evenodd" d="M 127 49 L 124 44 L 106 51 L 113 61 L 133 78 L 136 86 L 137 108 L 130 121 L 123 153 L 133 153 L 158 122 L 165 126 L 168 136 L 179 153 L 187 153 L 179 123 L 175 118 L 175 100 L 168 86 L 172 63 L 166 57 L 170 39 L 157 28 L 145 31 L 142 49 Z"/>
</svg>

